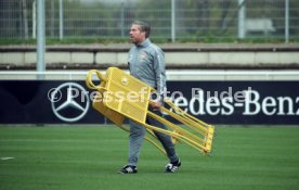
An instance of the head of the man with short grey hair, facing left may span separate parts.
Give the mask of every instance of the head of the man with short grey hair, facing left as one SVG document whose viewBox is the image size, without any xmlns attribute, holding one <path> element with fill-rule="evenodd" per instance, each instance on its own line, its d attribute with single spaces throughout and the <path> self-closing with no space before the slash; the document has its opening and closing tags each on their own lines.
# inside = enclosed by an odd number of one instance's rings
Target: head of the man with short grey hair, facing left
<svg viewBox="0 0 299 190">
<path fill-rule="evenodd" d="M 151 26 L 142 21 L 134 21 L 131 25 L 130 29 L 130 39 L 132 43 L 140 45 L 146 38 L 148 38 L 151 34 Z"/>
</svg>

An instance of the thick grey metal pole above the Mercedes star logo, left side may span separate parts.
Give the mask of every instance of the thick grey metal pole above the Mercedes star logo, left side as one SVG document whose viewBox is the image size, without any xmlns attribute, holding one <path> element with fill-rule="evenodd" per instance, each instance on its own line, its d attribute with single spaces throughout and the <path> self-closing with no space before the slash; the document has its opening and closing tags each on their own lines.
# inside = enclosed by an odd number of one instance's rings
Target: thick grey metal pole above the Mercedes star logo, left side
<svg viewBox="0 0 299 190">
<path fill-rule="evenodd" d="M 37 1 L 37 71 L 44 72 L 44 0 Z M 42 75 L 37 76 L 43 79 Z"/>
</svg>

